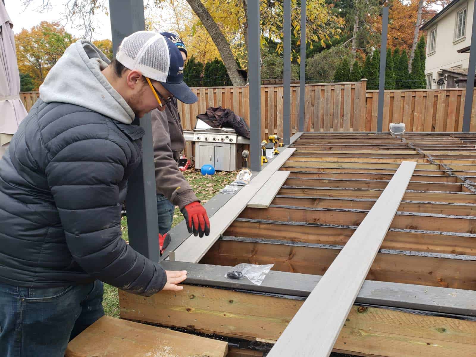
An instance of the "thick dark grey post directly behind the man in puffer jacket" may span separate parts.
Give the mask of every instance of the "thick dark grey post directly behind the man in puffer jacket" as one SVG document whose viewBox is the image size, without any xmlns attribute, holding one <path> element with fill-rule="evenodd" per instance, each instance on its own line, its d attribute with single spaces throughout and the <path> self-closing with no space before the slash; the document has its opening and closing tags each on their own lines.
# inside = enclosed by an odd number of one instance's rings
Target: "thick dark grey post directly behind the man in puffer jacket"
<svg viewBox="0 0 476 357">
<path fill-rule="evenodd" d="M 114 54 L 131 33 L 144 30 L 144 5 L 137 0 L 109 0 Z M 147 258 L 159 261 L 159 227 L 150 115 L 140 119 L 146 131 L 142 138 L 142 163 L 129 178 L 126 197 L 129 244 Z"/>
</svg>

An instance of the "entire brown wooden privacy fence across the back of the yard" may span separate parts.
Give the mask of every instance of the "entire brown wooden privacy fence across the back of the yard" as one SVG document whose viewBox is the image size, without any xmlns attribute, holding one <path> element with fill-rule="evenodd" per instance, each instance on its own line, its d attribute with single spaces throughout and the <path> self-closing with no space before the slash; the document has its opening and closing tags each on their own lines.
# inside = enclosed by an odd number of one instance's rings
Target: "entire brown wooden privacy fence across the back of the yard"
<svg viewBox="0 0 476 357">
<path fill-rule="evenodd" d="M 306 84 L 305 131 L 376 131 L 378 91 L 366 90 L 367 81 Z M 197 115 L 208 107 L 229 108 L 247 124 L 258 120 L 249 112 L 248 87 L 192 88 L 198 102 L 178 103 L 182 126 L 191 130 Z M 386 90 L 383 130 L 389 123 L 403 122 L 407 131 L 461 131 L 466 89 Z M 475 93 L 476 94 L 476 93 Z M 38 92 L 20 92 L 30 110 Z M 283 86 L 261 86 L 261 138 L 283 136 Z M 291 135 L 299 120 L 299 85 L 291 85 Z M 470 131 L 476 131 L 476 100 L 473 101 Z"/>
</svg>

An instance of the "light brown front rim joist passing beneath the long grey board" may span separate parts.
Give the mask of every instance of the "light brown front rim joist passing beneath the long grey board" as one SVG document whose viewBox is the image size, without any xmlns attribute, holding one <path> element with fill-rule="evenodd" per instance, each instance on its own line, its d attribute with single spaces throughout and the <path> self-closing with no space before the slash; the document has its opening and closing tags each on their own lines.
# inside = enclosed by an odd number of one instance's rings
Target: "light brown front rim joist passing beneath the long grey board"
<svg viewBox="0 0 476 357">
<path fill-rule="evenodd" d="M 274 272 L 271 271 L 268 274 L 272 273 Z M 287 277 L 281 278 L 281 280 L 287 278 L 287 284 L 282 285 L 307 286 L 297 276 L 299 275 L 288 273 Z M 297 279 L 297 284 L 294 284 L 294 279 Z M 366 285 L 367 281 L 362 289 L 366 289 Z M 397 294 L 395 299 L 398 300 L 400 288 L 403 287 L 399 285 L 389 287 L 389 296 L 393 289 Z M 413 287 L 408 286 L 408 288 L 410 290 L 406 292 L 411 294 Z M 460 290 L 431 287 L 415 287 L 415 289 L 418 289 L 418 291 L 415 290 L 417 298 L 415 294 L 413 295 L 415 301 L 420 301 L 420 296 L 427 301 L 438 300 L 439 297 L 435 295 L 433 289 L 436 291 L 440 289 L 442 297 L 445 292 L 450 294 L 444 297 L 445 301 L 458 300 L 458 298 L 466 301 L 467 298 L 459 294 Z M 371 290 L 375 292 L 377 299 L 383 295 L 379 293 L 377 286 Z M 367 290 L 367 293 L 370 291 Z M 152 297 L 140 297 L 119 290 L 123 318 L 231 337 L 267 340 L 278 339 L 303 304 L 303 301 L 280 296 L 249 294 L 193 285 L 184 285 L 182 291 L 164 291 Z M 467 301 L 474 305 L 474 299 L 473 301 L 467 299 Z M 446 303 L 443 302 L 443 304 Z M 316 310 L 321 309 L 316 307 Z M 389 357 L 474 355 L 475 321 L 424 316 L 377 307 L 359 307 L 358 304 L 350 309 L 346 317 L 348 321 L 345 322 L 336 341 L 334 346 L 336 350 L 357 355 L 375 353 L 374 356 Z M 313 326 L 317 324 L 318 321 Z M 296 353 L 281 356 L 302 355 Z"/>
</svg>

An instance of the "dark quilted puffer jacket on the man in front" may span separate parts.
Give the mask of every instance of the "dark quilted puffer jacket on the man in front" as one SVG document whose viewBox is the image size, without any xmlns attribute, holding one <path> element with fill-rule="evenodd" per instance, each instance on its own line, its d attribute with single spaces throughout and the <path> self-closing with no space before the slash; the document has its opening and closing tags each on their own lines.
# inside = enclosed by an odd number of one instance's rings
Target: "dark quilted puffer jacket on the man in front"
<svg viewBox="0 0 476 357">
<path fill-rule="evenodd" d="M 121 203 L 142 159 L 136 125 L 38 100 L 0 160 L 0 281 L 57 287 L 100 279 L 150 296 L 164 270 L 121 238 Z"/>
</svg>

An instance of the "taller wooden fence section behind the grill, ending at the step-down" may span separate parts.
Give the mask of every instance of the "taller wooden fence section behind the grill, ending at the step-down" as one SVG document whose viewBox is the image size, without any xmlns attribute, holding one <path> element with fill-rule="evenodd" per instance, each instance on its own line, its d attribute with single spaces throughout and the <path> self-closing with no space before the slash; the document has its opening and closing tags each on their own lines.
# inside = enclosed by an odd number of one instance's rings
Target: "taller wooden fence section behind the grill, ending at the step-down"
<svg viewBox="0 0 476 357">
<path fill-rule="evenodd" d="M 342 84 L 306 84 L 304 129 L 306 131 L 363 131 L 367 80 Z M 193 88 L 198 102 L 179 103 L 184 129 L 193 129 L 197 114 L 208 107 L 229 108 L 249 125 L 256 115 L 249 113 L 248 87 Z M 299 120 L 299 85 L 291 85 L 291 134 Z M 283 136 L 283 86 L 261 86 L 261 137 Z"/>
</svg>

